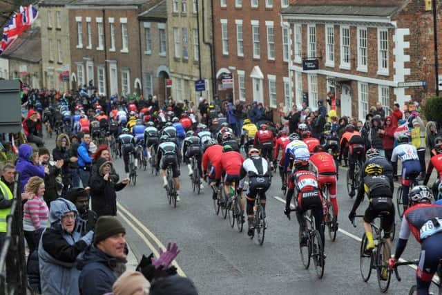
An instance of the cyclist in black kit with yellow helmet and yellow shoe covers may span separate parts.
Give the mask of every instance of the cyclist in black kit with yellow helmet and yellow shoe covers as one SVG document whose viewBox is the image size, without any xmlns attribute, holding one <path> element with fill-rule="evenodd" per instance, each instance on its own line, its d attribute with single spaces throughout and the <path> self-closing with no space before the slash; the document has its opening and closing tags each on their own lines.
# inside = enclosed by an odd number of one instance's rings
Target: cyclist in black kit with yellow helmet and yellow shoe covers
<svg viewBox="0 0 442 295">
<path fill-rule="evenodd" d="M 393 193 L 390 189 L 390 180 L 387 176 L 383 175 L 381 165 L 375 163 L 368 164 L 365 167 L 365 173 L 367 176 L 362 179 L 362 184 L 359 186 L 358 195 L 356 196 L 348 218 L 350 221 L 354 221 L 356 209 L 358 209 L 359 204 L 361 204 L 364 198 L 364 192 L 367 193 L 369 205 L 367 210 L 365 210 L 363 220 L 365 236 L 367 237 L 367 247 L 365 250 L 372 251 L 372 249 L 374 249 L 374 240 L 370 223 L 383 211 L 389 212 L 389 214 L 383 216 L 381 229 L 383 229 L 384 237 L 390 245 L 390 233 L 394 226 L 394 204 L 392 200 Z"/>
</svg>

